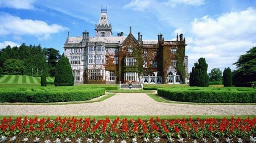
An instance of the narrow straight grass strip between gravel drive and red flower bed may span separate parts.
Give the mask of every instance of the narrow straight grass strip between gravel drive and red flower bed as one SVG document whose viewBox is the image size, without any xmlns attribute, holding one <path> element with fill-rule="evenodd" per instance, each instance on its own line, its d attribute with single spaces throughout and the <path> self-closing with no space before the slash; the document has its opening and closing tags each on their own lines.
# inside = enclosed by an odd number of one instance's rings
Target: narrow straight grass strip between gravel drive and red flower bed
<svg viewBox="0 0 256 143">
<path fill-rule="evenodd" d="M 11 116 L 12 118 L 16 118 L 16 117 L 19 117 L 20 115 L 16 115 L 16 116 Z M 23 118 L 24 118 L 24 115 L 21 115 Z M 35 118 L 37 115 L 34 115 L 34 116 L 27 116 L 27 118 Z M 114 120 L 116 118 L 120 118 L 121 120 L 122 119 L 142 119 L 142 120 L 149 120 L 150 118 L 154 118 L 156 119 L 156 116 L 158 115 L 147 115 L 147 116 L 126 116 L 126 115 L 122 115 L 122 116 L 115 116 L 115 115 L 104 115 L 104 116 L 76 116 L 76 118 L 89 118 L 90 119 L 93 119 L 95 118 L 96 120 L 100 120 L 100 119 L 106 119 L 106 118 L 109 118 L 110 120 Z M 234 118 L 241 118 L 241 119 L 247 119 L 248 117 L 250 118 L 254 118 L 256 115 L 236 115 L 234 116 Z M 55 119 L 56 117 L 59 117 L 58 115 L 55 115 L 55 116 L 37 116 L 38 118 L 51 118 L 51 119 Z M 64 118 L 64 117 L 71 117 L 72 116 L 61 116 L 61 118 Z M 232 118 L 232 115 L 164 115 L 164 116 L 161 116 L 159 115 L 158 116 L 161 120 L 163 119 L 168 119 L 168 120 L 172 120 L 172 119 L 182 119 L 182 118 L 185 118 L 188 120 L 189 117 L 191 117 L 193 120 L 196 120 L 198 117 L 200 119 L 208 119 L 208 118 L 216 118 L 217 120 L 221 120 L 223 118 L 226 118 L 226 119 L 230 119 Z M 3 119 L 3 118 L 9 118 L 8 115 L 0 115 L 0 119 Z"/>
</svg>

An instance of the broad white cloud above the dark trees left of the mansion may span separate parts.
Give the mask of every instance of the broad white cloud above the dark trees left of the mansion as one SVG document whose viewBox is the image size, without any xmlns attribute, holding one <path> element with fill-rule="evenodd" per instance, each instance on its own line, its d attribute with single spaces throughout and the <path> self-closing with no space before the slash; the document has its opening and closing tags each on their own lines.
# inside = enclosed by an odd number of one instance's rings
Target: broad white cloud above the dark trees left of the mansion
<svg viewBox="0 0 256 143">
<path fill-rule="evenodd" d="M 0 12 L 0 35 L 20 36 L 24 34 L 38 37 L 39 40 L 46 40 L 51 34 L 65 31 L 65 28 L 58 24 L 47 24 L 45 21 L 20 19 L 17 16 Z"/>
</svg>

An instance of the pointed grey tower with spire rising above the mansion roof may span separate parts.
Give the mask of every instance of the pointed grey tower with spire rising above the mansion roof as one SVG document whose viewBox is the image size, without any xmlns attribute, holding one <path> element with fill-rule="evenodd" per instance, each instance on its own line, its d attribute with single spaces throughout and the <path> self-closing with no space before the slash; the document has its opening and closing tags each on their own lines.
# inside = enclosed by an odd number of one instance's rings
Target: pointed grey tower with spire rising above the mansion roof
<svg viewBox="0 0 256 143">
<path fill-rule="evenodd" d="M 101 17 L 98 24 L 95 25 L 96 37 L 112 36 L 112 27 L 106 14 L 107 9 L 101 7 Z"/>
</svg>

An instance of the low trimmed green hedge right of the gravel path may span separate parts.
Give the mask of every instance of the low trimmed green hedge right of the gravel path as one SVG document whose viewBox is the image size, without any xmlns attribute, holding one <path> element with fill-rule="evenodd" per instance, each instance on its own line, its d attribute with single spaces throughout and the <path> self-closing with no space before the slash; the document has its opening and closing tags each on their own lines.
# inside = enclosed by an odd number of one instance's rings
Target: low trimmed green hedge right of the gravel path
<svg viewBox="0 0 256 143">
<path fill-rule="evenodd" d="M 256 90 L 238 88 L 158 88 L 158 95 L 182 102 L 256 103 Z"/>
</svg>

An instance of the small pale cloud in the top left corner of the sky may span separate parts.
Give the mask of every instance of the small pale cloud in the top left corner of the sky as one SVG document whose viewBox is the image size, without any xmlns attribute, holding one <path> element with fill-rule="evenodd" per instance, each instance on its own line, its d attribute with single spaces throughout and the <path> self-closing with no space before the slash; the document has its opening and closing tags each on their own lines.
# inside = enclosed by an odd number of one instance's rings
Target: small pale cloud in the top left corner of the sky
<svg viewBox="0 0 256 143">
<path fill-rule="evenodd" d="M 31 10 L 35 8 L 34 2 L 35 0 L 0 0 L 0 7 Z"/>
</svg>

